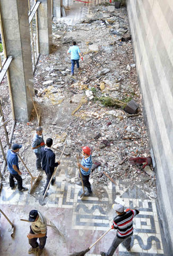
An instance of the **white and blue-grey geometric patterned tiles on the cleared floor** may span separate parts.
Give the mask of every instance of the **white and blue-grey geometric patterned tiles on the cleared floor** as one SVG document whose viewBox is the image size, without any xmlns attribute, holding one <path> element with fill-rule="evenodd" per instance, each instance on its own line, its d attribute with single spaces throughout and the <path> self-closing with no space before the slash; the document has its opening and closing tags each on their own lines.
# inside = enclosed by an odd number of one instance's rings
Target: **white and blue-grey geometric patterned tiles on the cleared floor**
<svg viewBox="0 0 173 256">
<path fill-rule="evenodd" d="M 49 189 L 47 207 L 56 209 L 66 209 L 72 211 L 71 229 L 79 232 L 87 231 L 94 234 L 97 231 L 106 231 L 113 222 L 115 212 L 111 210 L 116 196 L 120 196 L 125 207 L 135 207 L 140 210 L 140 214 L 134 218 L 134 236 L 132 238 L 132 252 L 127 252 L 123 245 L 117 249 L 117 255 L 169 255 L 167 253 L 166 241 L 157 209 L 157 203 L 146 197 L 145 193 L 137 186 L 132 186 L 126 181 L 116 181 L 117 185 L 109 183 L 102 189 L 105 190 L 104 197 L 99 199 L 96 195 L 92 197 L 80 198 L 82 188 L 67 182 L 67 177 L 78 175 L 75 167 L 68 167 L 68 160 L 64 158 L 59 166 L 56 183 Z M 43 185 L 42 179 L 36 189 Z M 34 192 L 36 192 L 34 191 Z M 34 195 L 34 194 L 33 194 Z M 38 194 L 34 197 L 27 193 L 19 193 L 18 190 L 3 188 L 1 192 L 1 204 L 11 205 L 38 205 Z M 140 197 L 140 198 L 139 198 Z M 113 232 L 113 231 L 111 231 Z M 113 233 L 111 233 L 113 234 Z M 109 237 L 111 236 L 109 235 Z M 103 238 L 104 239 L 104 238 Z M 105 250 L 108 249 L 107 242 Z M 113 237 L 109 238 L 111 241 Z M 97 250 L 97 249 L 96 249 Z M 100 249 L 99 249 L 100 250 Z M 99 251 L 97 251 L 99 255 Z M 97 254 L 86 254 L 96 256 Z"/>
</svg>

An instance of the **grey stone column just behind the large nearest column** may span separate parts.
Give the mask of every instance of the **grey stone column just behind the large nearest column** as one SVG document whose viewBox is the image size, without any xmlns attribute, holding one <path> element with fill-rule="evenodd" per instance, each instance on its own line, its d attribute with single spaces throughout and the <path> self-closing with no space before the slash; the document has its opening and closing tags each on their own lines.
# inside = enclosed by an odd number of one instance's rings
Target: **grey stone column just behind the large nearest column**
<svg viewBox="0 0 173 256">
<path fill-rule="evenodd" d="M 40 0 L 38 7 L 38 29 L 40 54 L 48 55 L 52 46 L 51 0 Z"/>
</svg>

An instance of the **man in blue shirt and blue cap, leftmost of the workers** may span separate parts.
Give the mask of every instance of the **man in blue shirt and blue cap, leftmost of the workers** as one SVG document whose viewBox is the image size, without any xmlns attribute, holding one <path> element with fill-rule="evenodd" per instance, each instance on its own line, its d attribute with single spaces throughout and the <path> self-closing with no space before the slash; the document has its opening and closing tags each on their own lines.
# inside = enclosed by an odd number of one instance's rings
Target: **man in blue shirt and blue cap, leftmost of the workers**
<svg viewBox="0 0 173 256">
<path fill-rule="evenodd" d="M 26 191 L 28 188 L 24 188 L 22 185 L 22 178 L 21 172 L 19 171 L 19 159 L 18 153 L 19 149 L 22 145 L 14 144 L 12 149 L 8 149 L 7 152 L 7 165 L 8 171 L 10 172 L 9 180 L 10 180 L 10 187 L 13 189 L 15 187 L 14 178 L 18 181 L 18 190 L 19 191 Z"/>
</svg>

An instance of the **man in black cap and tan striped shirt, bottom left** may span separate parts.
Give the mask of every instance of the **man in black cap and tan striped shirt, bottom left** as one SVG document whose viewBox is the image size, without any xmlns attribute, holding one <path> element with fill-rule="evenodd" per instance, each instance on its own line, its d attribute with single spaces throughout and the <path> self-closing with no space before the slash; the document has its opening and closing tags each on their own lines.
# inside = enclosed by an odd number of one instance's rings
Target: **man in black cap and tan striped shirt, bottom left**
<svg viewBox="0 0 173 256">
<path fill-rule="evenodd" d="M 37 256 L 41 256 L 46 244 L 47 238 L 47 220 L 37 210 L 32 210 L 29 213 L 29 221 L 31 222 L 30 233 L 27 235 L 29 238 L 29 244 L 31 248 L 28 253 L 37 253 Z M 39 238 L 40 244 L 37 239 Z"/>
</svg>

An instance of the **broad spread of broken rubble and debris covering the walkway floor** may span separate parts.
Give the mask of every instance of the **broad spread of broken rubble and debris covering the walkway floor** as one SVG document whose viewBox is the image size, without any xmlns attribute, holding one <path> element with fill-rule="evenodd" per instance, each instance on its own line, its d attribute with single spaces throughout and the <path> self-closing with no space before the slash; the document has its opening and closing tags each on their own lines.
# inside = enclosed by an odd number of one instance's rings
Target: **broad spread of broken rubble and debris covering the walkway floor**
<svg viewBox="0 0 173 256">
<path fill-rule="evenodd" d="M 129 157 L 148 157 L 150 148 L 142 114 L 142 97 L 128 29 L 125 7 L 97 6 L 94 18 L 73 25 L 53 22 L 54 45 L 49 56 L 41 56 L 35 80 L 35 100 L 44 120 L 44 134 L 54 139 L 54 147 L 67 144 L 68 165 L 82 146 L 92 148 L 93 163 L 100 162 L 90 175 L 94 191 L 101 196 L 109 178 L 140 184 L 155 197 L 152 166 L 132 165 Z M 68 48 L 76 41 L 83 55 L 80 70 L 71 76 Z M 124 109 L 134 101 L 134 115 Z M 62 114 L 64 113 L 64 114 Z M 23 157 L 33 168 L 31 141 L 36 116 L 28 124 L 17 123 L 14 141 L 24 142 Z M 97 136 L 98 135 L 98 136 Z M 24 137 L 24 138 L 23 138 Z M 151 168 L 150 168 L 151 167 Z M 68 177 L 75 182 L 77 178 Z"/>
</svg>

